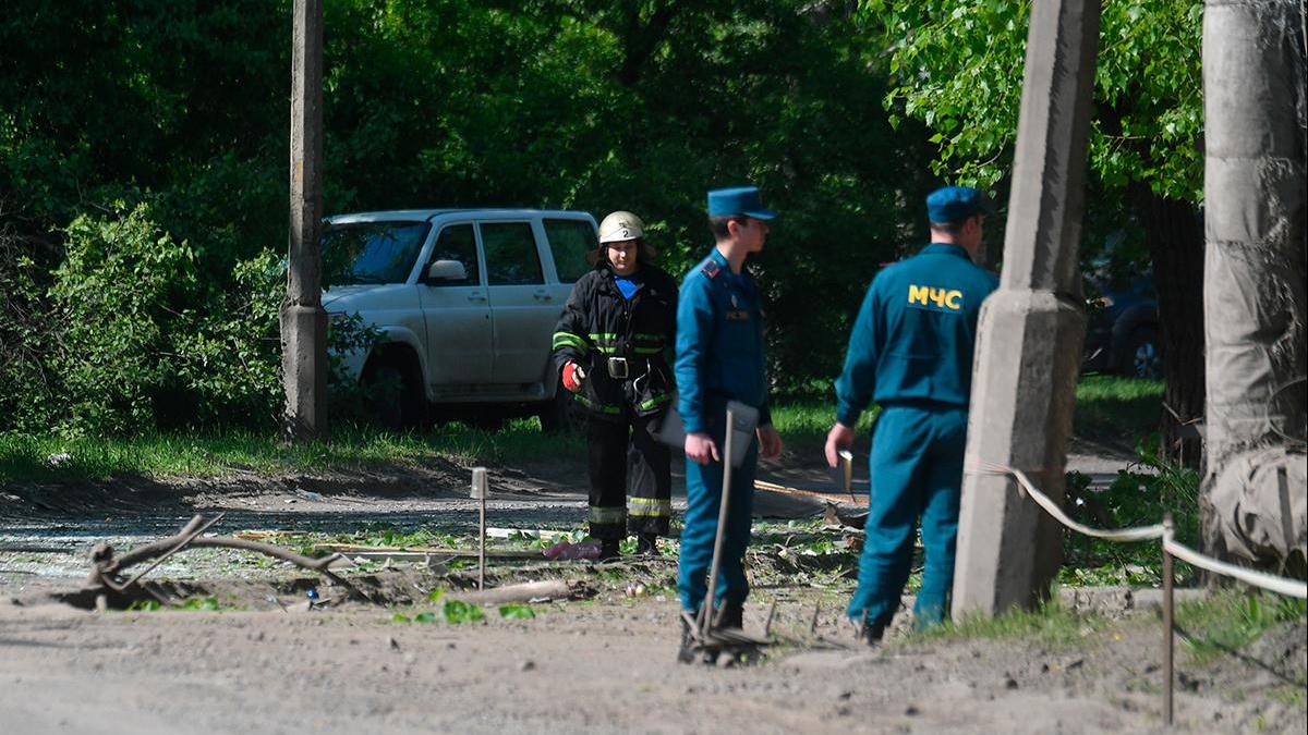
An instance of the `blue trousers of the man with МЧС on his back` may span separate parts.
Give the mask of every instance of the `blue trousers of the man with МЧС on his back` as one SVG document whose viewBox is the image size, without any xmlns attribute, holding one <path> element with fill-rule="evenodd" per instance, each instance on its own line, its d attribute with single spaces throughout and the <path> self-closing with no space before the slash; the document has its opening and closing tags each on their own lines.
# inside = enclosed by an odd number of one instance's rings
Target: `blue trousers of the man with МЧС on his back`
<svg viewBox="0 0 1308 735">
<path fill-rule="evenodd" d="M 849 602 L 850 620 L 874 624 L 893 617 L 908 582 L 918 518 L 926 568 L 914 625 L 944 619 L 954 586 L 967 426 L 964 408 L 883 407 L 872 432 L 867 538 L 858 560 L 858 590 Z"/>
</svg>

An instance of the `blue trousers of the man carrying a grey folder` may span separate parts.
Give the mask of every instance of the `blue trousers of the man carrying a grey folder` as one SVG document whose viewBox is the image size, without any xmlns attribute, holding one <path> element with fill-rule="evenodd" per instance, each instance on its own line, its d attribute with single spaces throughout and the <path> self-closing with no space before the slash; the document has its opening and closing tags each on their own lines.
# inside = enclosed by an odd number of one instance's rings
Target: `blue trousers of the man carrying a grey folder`
<svg viewBox="0 0 1308 735">
<path fill-rule="evenodd" d="M 722 437 L 713 432 L 713 441 L 722 451 Z M 725 458 L 723 458 L 725 459 Z M 759 462 L 759 439 L 749 442 L 740 467 L 731 468 L 731 496 L 727 505 L 727 528 L 722 539 L 722 564 L 714 604 L 740 604 L 749 595 L 744 575 L 744 552 L 749 545 L 749 522 L 753 517 L 753 477 Z M 722 463 L 706 466 L 685 462 L 685 522 L 681 528 L 681 557 L 676 566 L 676 591 L 681 608 L 698 611 L 709 586 L 713 564 L 713 541 L 718 532 L 718 509 L 722 502 Z"/>
</svg>

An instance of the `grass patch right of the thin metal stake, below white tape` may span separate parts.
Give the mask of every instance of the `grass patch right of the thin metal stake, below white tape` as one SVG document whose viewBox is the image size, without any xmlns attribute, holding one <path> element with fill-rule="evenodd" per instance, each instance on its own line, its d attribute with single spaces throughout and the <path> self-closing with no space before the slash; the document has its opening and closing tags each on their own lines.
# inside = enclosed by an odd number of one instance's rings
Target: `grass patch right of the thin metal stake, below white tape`
<svg viewBox="0 0 1308 735">
<path fill-rule="evenodd" d="M 1223 590 L 1176 608 L 1176 626 L 1196 663 L 1243 650 L 1273 628 L 1295 621 L 1308 623 L 1304 600 L 1260 591 Z"/>
</svg>

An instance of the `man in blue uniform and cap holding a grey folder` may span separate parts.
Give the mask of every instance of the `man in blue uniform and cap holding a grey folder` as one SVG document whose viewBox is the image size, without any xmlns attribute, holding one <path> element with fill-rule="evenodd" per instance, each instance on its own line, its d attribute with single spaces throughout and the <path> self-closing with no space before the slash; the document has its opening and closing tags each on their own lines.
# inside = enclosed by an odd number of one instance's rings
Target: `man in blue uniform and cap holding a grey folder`
<svg viewBox="0 0 1308 735">
<path fill-rule="evenodd" d="M 759 409 L 757 441 L 744 462 L 731 470 L 727 527 L 723 538 L 717 624 L 740 628 L 749 594 L 743 558 L 753 513 L 753 476 L 759 455 L 781 454 L 781 437 L 768 412 L 768 381 L 763 354 L 763 310 L 753 277 L 744 269 L 751 252 L 763 250 L 768 221 L 756 187 L 709 192 L 709 226 L 717 246 L 691 268 L 681 282 L 676 311 L 678 412 L 685 425 L 685 524 L 676 590 L 681 598 L 683 662 L 689 650 L 689 623 L 704 604 L 718 506 L 722 500 L 722 447 L 726 405 L 739 400 Z"/>
</svg>

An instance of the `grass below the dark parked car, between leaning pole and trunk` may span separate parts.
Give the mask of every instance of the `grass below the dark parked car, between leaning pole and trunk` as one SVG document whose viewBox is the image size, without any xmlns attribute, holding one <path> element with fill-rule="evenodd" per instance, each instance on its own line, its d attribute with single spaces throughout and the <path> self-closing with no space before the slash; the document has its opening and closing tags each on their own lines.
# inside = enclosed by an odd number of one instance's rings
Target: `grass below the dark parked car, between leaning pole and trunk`
<svg viewBox="0 0 1308 735">
<path fill-rule="evenodd" d="M 1086 375 L 1076 383 L 1073 433 L 1109 442 L 1139 442 L 1159 430 L 1163 381 Z"/>
</svg>

